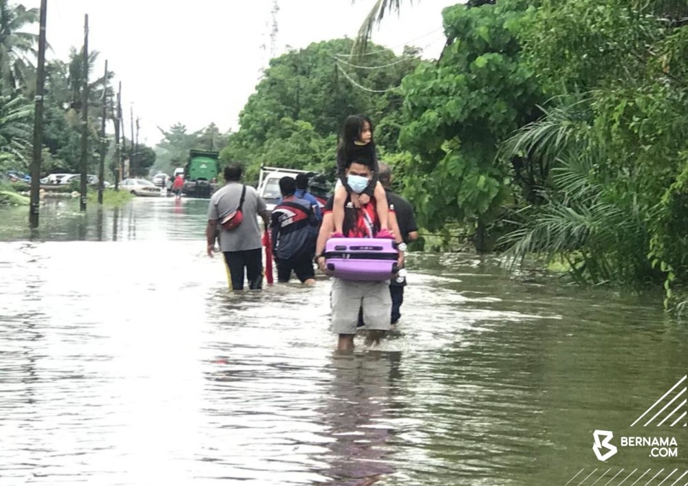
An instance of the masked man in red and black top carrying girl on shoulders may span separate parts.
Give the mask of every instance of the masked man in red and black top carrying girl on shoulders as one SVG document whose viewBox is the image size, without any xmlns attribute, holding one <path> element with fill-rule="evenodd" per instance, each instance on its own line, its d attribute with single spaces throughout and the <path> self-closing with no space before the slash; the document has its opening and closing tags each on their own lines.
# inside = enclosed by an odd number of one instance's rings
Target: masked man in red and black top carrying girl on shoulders
<svg viewBox="0 0 688 486">
<path fill-rule="evenodd" d="M 372 179 L 372 170 L 367 164 L 350 162 L 345 171 L 347 183 L 352 190 L 362 192 Z M 350 199 L 344 201 L 345 214 L 343 221 L 343 235 L 346 238 L 375 237 L 380 232 L 380 219 L 376 210 L 376 201 L 371 198 L 360 208 L 354 208 Z M 327 273 L 325 267 L 325 243 L 334 231 L 332 208 L 334 197 L 330 197 L 323 212 L 323 223 L 316 243 L 315 263 Z M 372 221 L 372 226 L 368 224 Z M 395 235 L 397 243 L 402 243 L 399 228 L 396 224 L 394 211 L 389 210 L 389 226 Z M 369 234 L 372 230 L 372 234 Z M 399 252 L 398 266 L 404 263 L 404 252 Z M 354 349 L 354 335 L 358 324 L 358 309 L 363 308 L 368 334 L 366 344 L 378 344 L 380 338 L 389 330 L 389 316 L 391 314 L 391 297 L 389 296 L 389 280 L 381 282 L 359 282 L 332 278 L 332 332 L 339 335 L 338 351 L 352 351 Z"/>
</svg>

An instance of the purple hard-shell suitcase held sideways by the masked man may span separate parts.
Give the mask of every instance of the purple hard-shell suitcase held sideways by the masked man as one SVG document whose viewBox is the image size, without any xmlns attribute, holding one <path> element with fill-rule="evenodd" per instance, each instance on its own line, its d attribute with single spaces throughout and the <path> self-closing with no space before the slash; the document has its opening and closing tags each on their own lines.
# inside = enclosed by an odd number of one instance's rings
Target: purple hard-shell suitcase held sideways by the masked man
<svg viewBox="0 0 688 486">
<path fill-rule="evenodd" d="M 386 238 L 330 238 L 325 267 L 343 280 L 389 280 L 397 271 L 396 242 Z"/>
</svg>

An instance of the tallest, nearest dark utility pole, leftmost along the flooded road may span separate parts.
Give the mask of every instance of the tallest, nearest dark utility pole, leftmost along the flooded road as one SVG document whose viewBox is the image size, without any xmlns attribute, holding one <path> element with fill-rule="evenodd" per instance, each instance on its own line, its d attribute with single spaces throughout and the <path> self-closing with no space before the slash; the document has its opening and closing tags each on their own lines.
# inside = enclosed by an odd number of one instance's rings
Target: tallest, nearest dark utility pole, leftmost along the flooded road
<svg viewBox="0 0 688 486">
<path fill-rule="evenodd" d="M 41 30 L 39 32 L 39 59 L 36 67 L 36 113 L 34 115 L 34 157 L 31 161 L 31 206 L 29 226 L 38 228 L 41 206 L 41 158 L 43 157 L 43 87 L 45 85 L 45 16 L 47 0 L 41 0 Z"/>
</svg>

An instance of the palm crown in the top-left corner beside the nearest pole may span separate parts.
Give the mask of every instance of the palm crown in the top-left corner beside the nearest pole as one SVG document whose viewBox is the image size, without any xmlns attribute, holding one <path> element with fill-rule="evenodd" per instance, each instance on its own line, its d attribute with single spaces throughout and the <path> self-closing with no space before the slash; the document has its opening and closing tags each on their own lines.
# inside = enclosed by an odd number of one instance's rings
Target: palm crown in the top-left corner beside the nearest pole
<svg viewBox="0 0 688 486">
<path fill-rule="evenodd" d="M 39 10 L 24 5 L 10 5 L 0 0 L 0 79 L 8 88 L 24 85 L 25 71 L 38 55 L 36 34 L 23 32 L 28 24 L 39 20 Z"/>
</svg>

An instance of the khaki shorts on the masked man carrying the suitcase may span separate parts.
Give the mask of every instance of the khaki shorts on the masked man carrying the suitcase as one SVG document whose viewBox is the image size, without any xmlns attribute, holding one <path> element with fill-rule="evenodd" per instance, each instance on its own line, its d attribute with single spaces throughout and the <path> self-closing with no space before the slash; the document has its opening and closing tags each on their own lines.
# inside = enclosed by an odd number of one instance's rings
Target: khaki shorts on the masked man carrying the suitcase
<svg viewBox="0 0 688 486">
<path fill-rule="evenodd" d="M 358 309 L 363 307 L 365 329 L 389 330 L 391 296 L 389 280 L 358 282 L 332 278 L 332 332 L 356 334 Z"/>
</svg>

